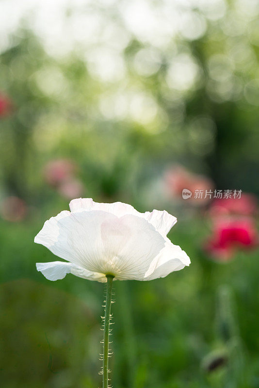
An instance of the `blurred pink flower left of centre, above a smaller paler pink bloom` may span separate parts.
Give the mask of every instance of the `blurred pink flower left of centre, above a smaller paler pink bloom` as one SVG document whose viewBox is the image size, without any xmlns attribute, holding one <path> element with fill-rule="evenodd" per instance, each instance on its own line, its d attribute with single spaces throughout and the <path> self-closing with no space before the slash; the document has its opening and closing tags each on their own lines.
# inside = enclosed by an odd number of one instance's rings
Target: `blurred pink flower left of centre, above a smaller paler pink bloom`
<svg viewBox="0 0 259 388">
<path fill-rule="evenodd" d="M 71 179 L 77 166 L 69 159 L 56 159 L 48 162 L 44 168 L 44 177 L 50 186 L 59 186 L 62 182 Z"/>
</svg>

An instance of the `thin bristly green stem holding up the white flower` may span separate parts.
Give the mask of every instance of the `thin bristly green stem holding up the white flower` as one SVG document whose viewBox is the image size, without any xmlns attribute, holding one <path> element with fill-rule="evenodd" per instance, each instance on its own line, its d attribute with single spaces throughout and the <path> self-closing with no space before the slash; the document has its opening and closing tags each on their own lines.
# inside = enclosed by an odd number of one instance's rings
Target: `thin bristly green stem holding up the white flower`
<svg viewBox="0 0 259 388">
<path fill-rule="evenodd" d="M 104 315 L 104 329 L 103 329 L 103 363 L 102 363 L 102 387 L 108 388 L 108 357 L 109 357 L 109 336 L 110 336 L 110 319 L 111 319 L 111 304 L 112 304 L 112 288 L 113 275 L 106 275 L 107 277 L 107 291 Z"/>
</svg>

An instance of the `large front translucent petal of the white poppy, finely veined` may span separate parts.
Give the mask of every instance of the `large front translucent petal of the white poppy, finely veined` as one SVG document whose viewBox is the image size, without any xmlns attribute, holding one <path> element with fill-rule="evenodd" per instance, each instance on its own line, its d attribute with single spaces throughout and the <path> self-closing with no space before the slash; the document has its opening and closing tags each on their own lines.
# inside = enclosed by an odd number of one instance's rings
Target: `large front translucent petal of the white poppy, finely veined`
<svg viewBox="0 0 259 388">
<path fill-rule="evenodd" d="M 165 240 L 143 217 L 101 210 L 52 217 L 35 242 L 88 271 L 142 280 Z"/>
</svg>

